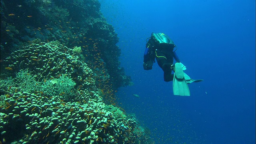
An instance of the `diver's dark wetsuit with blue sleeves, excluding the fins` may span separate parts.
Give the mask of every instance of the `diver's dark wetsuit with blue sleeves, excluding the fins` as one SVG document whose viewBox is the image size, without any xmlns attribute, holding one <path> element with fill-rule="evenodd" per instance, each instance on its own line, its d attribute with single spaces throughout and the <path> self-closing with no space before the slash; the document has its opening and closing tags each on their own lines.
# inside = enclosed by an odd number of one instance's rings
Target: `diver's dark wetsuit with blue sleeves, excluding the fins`
<svg viewBox="0 0 256 144">
<path fill-rule="evenodd" d="M 153 34 L 154 33 L 152 33 L 152 35 Z M 158 34 L 158 36 L 159 35 L 160 33 Z M 171 41 L 170 38 L 168 39 L 169 41 Z M 151 70 L 154 59 L 156 58 L 158 65 L 164 71 L 164 81 L 170 82 L 171 80 L 173 80 L 173 76 L 174 76 L 172 74 L 173 58 L 176 60 L 176 62 L 180 62 L 176 53 L 173 52 L 174 47 L 175 47 L 174 44 L 167 44 L 167 43 L 157 44 L 156 40 L 150 37 L 150 39 L 146 44 L 146 50 L 144 53 L 144 64 L 143 64 L 144 70 Z"/>
</svg>

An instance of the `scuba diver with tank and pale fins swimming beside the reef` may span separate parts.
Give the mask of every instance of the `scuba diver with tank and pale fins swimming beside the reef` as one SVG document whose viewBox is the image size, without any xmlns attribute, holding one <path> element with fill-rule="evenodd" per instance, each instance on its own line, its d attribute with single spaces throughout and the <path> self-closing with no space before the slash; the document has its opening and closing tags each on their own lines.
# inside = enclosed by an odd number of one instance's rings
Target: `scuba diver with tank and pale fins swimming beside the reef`
<svg viewBox="0 0 256 144">
<path fill-rule="evenodd" d="M 192 82 L 201 82 L 202 80 L 191 79 L 183 70 L 186 70 L 177 54 L 174 42 L 163 33 L 152 33 L 150 38 L 146 39 L 146 50 L 144 52 L 143 68 L 151 70 L 155 59 L 158 66 L 164 71 L 164 81 L 173 80 L 174 95 L 190 96 L 188 84 Z M 173 59 L 176 63 L 173 64 Z M 172 74 L 174 71 L 174 74 Z"/>
</svg>

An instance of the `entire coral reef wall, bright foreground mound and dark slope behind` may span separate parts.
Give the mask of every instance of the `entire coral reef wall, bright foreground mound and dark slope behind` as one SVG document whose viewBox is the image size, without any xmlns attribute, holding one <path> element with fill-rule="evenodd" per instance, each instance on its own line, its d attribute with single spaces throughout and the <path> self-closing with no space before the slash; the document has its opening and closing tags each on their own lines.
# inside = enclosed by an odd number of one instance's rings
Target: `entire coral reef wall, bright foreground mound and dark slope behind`
<svg viewBox="0 0 256 144">
<path fill-rule="evenodd" d="M 152 143 L 116 106 L 131 80 L 98 0 L 0 2 L 1 143 Z"/>
</svg>

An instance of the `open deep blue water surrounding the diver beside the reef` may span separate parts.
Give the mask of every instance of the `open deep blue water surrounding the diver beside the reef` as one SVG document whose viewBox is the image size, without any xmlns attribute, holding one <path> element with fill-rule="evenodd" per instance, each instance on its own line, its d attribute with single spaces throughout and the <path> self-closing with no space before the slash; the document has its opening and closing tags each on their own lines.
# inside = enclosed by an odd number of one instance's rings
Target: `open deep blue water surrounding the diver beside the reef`
<svg viewBox="0 0 256 144">
<path fill-rule="evenodd" d="M 255 0 L 100 2 L 134 82 L 118 101 L 156 144 L 255 144 Z M 174 96 L 157 63 L 143 70 L 152 32 L 168 35 L 186 74 L 204 79 L 189 85 L 191 96 Z"/>
</svg>

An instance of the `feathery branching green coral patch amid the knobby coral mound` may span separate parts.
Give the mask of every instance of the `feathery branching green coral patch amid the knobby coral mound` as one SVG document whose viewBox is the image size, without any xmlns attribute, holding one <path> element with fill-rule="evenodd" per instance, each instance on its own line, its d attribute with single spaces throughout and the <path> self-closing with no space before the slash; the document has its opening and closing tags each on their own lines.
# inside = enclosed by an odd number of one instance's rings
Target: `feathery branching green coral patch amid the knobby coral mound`
<svg viewBox="0 0 256 144">
<path fill-rule="evenodd" d="M 76 83 L 66 75 L 62 75 L 60 78 L 44 79 L 42 82 L 37 82 L 35 76 L 26 69 L 17 72 L 15 78 L 1 79 L 0 86 L 1 90 L 7 90 L 10 93 L 14 93 L 17 90 L 32 93 L 40 91 L 46 96 L 62 95 L 64 98 L 72 98 L 75 95 L 75 85 Z"/>
</svg>

